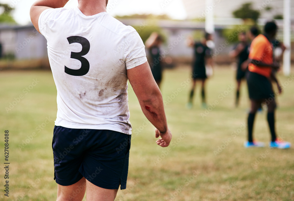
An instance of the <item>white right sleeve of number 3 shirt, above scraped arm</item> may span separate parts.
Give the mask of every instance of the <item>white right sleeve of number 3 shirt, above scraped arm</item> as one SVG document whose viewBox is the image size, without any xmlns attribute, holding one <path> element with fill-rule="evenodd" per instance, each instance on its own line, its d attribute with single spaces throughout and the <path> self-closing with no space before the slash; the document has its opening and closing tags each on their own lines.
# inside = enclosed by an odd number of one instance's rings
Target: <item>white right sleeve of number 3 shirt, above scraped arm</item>
<svg viewBox="0 0 294 201">
<path fill-rule="evenodd" d="M 131 69 L 147 62 L 145 45 L 135 29 L 125 37 L 124 56 L 126 69 Z"/>
</svg>

